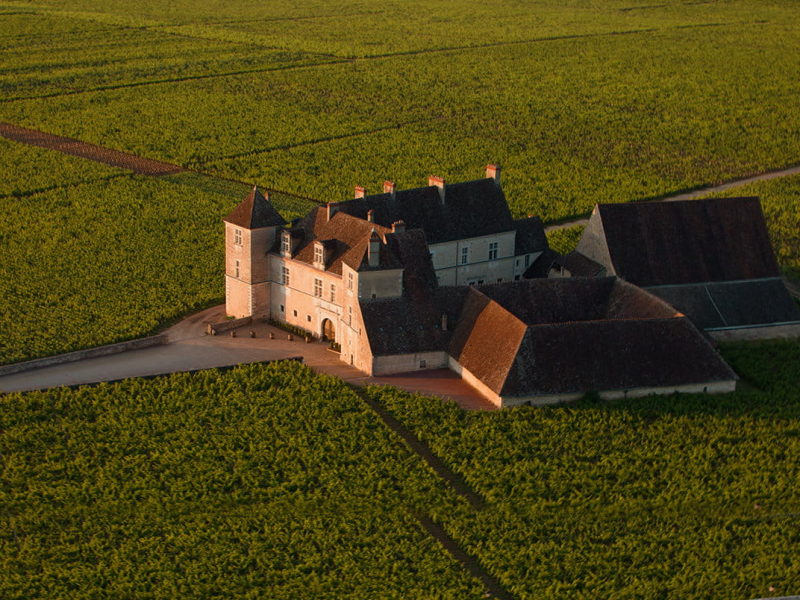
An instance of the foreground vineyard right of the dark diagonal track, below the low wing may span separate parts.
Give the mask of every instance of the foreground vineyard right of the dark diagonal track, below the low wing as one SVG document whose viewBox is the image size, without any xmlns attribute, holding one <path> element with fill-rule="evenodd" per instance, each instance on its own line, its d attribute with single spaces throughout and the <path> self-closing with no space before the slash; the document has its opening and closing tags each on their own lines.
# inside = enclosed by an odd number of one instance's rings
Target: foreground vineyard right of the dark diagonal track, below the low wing
<svg viewBox="0 0 800 600">
<path fill-rule="evenodd" d="M 370 393 L 486 500 L 459 541 L 520 598 L 797 594 L 800 342 L 724 354 L 734 395 L 478 413 Z"/>
</svg>

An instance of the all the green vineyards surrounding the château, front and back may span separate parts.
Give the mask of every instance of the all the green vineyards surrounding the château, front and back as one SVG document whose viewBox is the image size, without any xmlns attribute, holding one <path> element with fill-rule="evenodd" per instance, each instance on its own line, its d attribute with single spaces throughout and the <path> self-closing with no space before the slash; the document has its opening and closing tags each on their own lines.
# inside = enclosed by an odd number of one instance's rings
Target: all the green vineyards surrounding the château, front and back
<svg viewBox="0 0 800 600">
<path fill-rule="evenodd" d="M 220 302 L 220 219 L 503 165 L 546 222 L 800 161 L 791 0 L 0 1 L 0 121 L 191 169 L 0 139 L 0 364 Z M 758 194 L 800 280 L 800 179 Z M 580 228 L 550 234 L 558 251 Z M 0 398 L 0 595 L 520 598 L 800 590 L 797 342 L 723 349 L 733 396 L 464 413 L 242 367 Z M 434 590 L 434 591 L 432 591 Z"/>
</svg>

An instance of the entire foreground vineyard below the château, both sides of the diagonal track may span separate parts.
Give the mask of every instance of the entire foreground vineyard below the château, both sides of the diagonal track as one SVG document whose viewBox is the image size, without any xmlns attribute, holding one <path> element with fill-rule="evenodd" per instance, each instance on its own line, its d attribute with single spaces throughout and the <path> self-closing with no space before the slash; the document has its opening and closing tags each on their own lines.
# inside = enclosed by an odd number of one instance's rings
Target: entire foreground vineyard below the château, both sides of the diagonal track
<svg viewBox="0 0 800 600">
<path fill-rule="evenodd" d="M 484 597 L 420 515 L 516 598 L 797 593 L 800 343 L 724 354 L 734 395 L 485 413 L 369 389 L 478 510 L 297 363 L 10 394 L 0 595 Z"/>
</svg>

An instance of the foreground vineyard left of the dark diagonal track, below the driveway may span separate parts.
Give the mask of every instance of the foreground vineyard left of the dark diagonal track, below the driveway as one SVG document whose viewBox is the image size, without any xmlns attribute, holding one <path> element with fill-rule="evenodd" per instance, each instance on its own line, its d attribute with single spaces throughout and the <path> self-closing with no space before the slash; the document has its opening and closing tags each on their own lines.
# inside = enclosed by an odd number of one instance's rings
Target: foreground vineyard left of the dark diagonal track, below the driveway
<svg viewBox="0 0 800 600">
<path fill-rule="evenodd" d="M 0 596 L 482 598 L 466 503 L 290 362 L 6 396 Z"/>
</svg>

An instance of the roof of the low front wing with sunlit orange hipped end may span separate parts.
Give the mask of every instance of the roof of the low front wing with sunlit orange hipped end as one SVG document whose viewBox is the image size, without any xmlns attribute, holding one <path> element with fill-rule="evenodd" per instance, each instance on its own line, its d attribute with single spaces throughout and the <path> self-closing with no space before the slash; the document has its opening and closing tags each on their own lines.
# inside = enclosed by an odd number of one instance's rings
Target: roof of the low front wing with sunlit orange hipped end
<svg viewBox="0 0 800 600">
<path fill-rule="evenodd" d="M 500 396 L 736 379 L 688 319 L 616 278 L 470 288 L 449 353 Z"/>
</svg>

